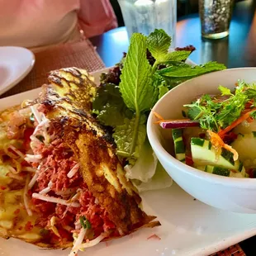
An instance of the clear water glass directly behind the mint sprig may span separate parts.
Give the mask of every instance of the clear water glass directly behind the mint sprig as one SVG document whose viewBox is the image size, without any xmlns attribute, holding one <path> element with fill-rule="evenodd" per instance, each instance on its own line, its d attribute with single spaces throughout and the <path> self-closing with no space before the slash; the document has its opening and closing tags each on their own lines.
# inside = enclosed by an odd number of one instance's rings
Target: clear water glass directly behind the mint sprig
<svg viewBox="0 0 256 256">
<path fill-rule="evenodd" d="M 148 36 L 162 28 L 172 36 L 175 47 L 177 0 L 118 0 L 128 36 L 139 32 Z"/>
</svg>

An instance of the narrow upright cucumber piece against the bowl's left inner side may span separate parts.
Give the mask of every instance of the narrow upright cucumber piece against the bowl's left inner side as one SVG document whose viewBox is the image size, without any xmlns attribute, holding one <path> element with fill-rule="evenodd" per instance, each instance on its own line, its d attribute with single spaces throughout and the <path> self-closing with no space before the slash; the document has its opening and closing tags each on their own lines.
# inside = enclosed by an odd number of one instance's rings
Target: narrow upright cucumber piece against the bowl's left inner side
<svg viewBox="0 0 256 256">
<path fill-rule="evenodd" d="M 182 129 L 173 129 L 173 142 L 174 142 L 174 151 L 175 151 L 175 158 L 179 161 L 185 163 L 185 144 L 183 141 L 183 130 Z"/>
</svg>

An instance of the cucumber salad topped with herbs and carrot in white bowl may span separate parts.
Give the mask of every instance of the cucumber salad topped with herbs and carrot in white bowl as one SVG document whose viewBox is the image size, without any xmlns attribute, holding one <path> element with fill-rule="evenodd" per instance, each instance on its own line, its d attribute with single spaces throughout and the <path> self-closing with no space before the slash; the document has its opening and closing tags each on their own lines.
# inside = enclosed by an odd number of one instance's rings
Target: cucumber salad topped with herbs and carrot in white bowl
<svg viewBox="0 0 256 256">
<path fill-rule="evenodd" d="M 156 123 L 171 129 L 176 159 L 206 173 L 256 178 L 256 83 L 204 94 L 183 106 L 183 119 Z"/>
</svg>

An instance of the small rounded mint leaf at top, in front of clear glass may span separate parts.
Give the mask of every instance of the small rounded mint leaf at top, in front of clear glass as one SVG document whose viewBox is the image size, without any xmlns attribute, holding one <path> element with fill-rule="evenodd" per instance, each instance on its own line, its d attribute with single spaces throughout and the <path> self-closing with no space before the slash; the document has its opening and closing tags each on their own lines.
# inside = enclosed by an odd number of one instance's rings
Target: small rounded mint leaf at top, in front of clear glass
<svg viewBox="0 0 256 256">
<path fill-rule="evenodd" d="M 171 37 L 168 36 L 164 30 L 155 29 L 147 37 L 147 48 L 154 59 L 164 59 L 164 56 L 168 53 L 168 48 L 171 45 Z"/>
</svg>

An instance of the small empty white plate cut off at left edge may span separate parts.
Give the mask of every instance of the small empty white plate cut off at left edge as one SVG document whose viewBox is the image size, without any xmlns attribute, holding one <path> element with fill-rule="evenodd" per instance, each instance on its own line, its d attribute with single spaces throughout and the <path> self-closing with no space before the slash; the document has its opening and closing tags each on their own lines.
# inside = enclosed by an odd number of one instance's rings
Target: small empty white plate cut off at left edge
<svg viewBox="0 0 256 256">
<path fill-rule="evenodd" d="M 0 95 L 19 83 L 31 71 L 35 56 L 22 47 L 0 47 Z"/>
</svg>

